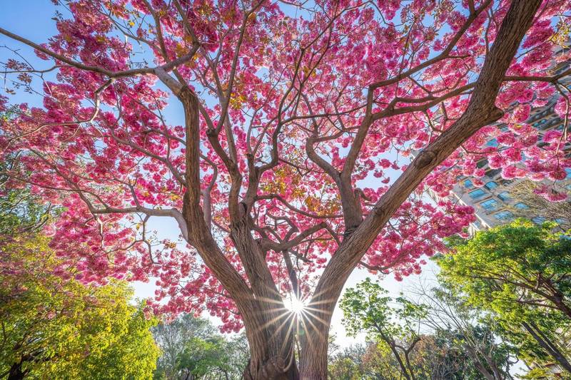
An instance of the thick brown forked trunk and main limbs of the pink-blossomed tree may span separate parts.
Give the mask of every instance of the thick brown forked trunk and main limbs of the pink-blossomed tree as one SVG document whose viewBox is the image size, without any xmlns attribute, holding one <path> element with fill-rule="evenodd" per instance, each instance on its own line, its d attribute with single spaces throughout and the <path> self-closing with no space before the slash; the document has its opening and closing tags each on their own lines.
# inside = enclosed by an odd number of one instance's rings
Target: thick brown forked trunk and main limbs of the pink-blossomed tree
<svg viewBox="0 0 571 380">
<path fill-rule="evenodd" d="M 473 1 L 469 3 L 474 8 Z M 343 284 L 353 269 L 358 266 L 359 261 L 378 237 L 389 218 L 420 185 L 423 178 L 480 128 L 502 117 L 503 112 L 495 106 L 495 98 L 502 82 L 505 81 L 507 68 L 512 63 L 525 31 L 532 24 L 533 17 L 541 3 L 541 0 L 511 1 L 510 8 L 497 31 L 495 41 L 485 57 L 480 76 L 471 93 L 470 103 L 463 115 L 413 160 L 405 173 L 400 175 L 392 187 L 375 203 L 364 220 L 361 221 L 360 210 L 355 210 L 359 207 L 359 202 L 354 199 L 355 197 L 352 202 L 350 191 L 345 191 L 343 186 L 340 186 L 345 216 L 345 237 L 325 266 L 315 287 L 306 313 L 310 315 L 305 318 L 306 315 L 303 314 L 303 318 L 300 318 L 302 319 L 300 322 L 303 323 L 300 323 L 302 326 L 298 331 L 299 371 L 295 364 L 295 339 L 293 339 L 297 331 L 290 329 L 290 324 L 284 317 L 285 308 L 283 308 L 280 294 L 268 269 L 266 252 L 252 235 L 251 207 L 256 200 L 258 175 L 261 175 L 263 170 L 250 163 L 253 170 L 248 178 L 248 191 L 243 201 L 240 202 L 242 175 L 238 170 L 236 160 L 228 158 L 218 141 L 217 130 L 209 128 L 208 140 L 215 150 L 226 158 L 225 164 L 231 175 L 232 185 L 228 202 L 231 238 L 248 277 L 249 284 L 246 284 L 242 275 L 228 262 L 225 253 L 218 247 L 210 228 L 206 226 L 201 210 L 201 168 L 199 165 L 201 137 L 198 98 L 188 87 L 176 88 L 174 86 L 175 93 L 178 93 L 178 98 L 181 99 L 185 109 L 187 131 L 185 153 L 187 192 L 184 195 L 184 223 L 182 224 L 188 229 L 186 234 L 188 242 L 196 247 L 206 265 L 216 274 L 216 278 L 221 281 L 223 287 L 236 302 L 241 313 L 251 350 L 251 360 L 244 374 L 246 379 L 327 379 L 328 332 L 331 314 L 343 290 Z M 474 11 L 471 9 L 471 13 Z M 427 62 L 427 66 L 432 64 L 430 61 Z M 421 67 L 418 67 L 420 70 Z M 397 77 L 396 82 L 399 80 L 400 78 Z M 371 96 L 375 88 L 378 88 L 378 85 L 370 87 Z M 466 90 L 468 88 L 460 93 L 465 93 Z M 368 106 L 371 107 L 372 103 Z M 366 119 L 368 124 L 365 123 L 359 128 L 359 135 L 363 136 L 360 137 L 361 140 L 364 140 L 368 128 L 374 121 L 370 110 L 368 113 L 368 119 Z M 376 113 L 375 115 L 382 116 L 383 114 Z M 352 153 L 350 160 L 354 160 L 360 150 L 359 143 L 353 146 L 356 148 L 352 148 L 354 154 Z M 325 162 L 315 154 L 312 147 L 311 144 L 306 145 L 308 156 L 313 157 L 314 162 Z M 274 157 L 277 163 L 277 155 Z M 326 162 L 322 166 L 341 185 L 344 185 L 350 178 L 353 170 L 352 165 L 348 165 L 348 170 L 344 168 L 343 173 L 338 173 L 332 165 Z M 343 175 L 343 178 L 340 178 L 340 175 Z M 347 198 L 348 201 L 346 201 Z"/>
</svg>

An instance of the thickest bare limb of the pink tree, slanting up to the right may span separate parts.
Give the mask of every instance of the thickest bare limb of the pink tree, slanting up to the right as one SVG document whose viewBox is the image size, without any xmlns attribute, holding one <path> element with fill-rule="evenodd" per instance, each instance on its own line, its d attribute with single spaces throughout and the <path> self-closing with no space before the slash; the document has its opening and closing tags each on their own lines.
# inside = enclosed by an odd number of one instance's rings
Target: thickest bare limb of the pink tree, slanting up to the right
<svg viewBox="0 0 571 380">
<path fill-rule="evenodd" d="M 388 192 L 380 197 L 373 212 L 365 218 L 350 237 L 343 241 L 335 255 L 331 257 L 311 300 L 311 304 L 315 304 L 316 309 L 322 310 L 318 317 L 325 319 L 326 322 L 330 321 L 330 311 L 335 307 L 343 284 L 350 273 L 373 244 L 385 223 L 423 178 L 477 130 L 502 116 L 502 111 L 495 106 L 495 98 L 504 80 L 505 72 L 525 32 L 532 24 L 533 16 L 540 4 L 541 0 L 512 1 L 497 33 L 495 43 L 485 58 L 465 113 L 413 160 L 405 173 L 398 178 Z M 318 323 L 322 322 L 318 321 Z M 319 337 L 313 338 L 320 339 Z"/>
</svg>

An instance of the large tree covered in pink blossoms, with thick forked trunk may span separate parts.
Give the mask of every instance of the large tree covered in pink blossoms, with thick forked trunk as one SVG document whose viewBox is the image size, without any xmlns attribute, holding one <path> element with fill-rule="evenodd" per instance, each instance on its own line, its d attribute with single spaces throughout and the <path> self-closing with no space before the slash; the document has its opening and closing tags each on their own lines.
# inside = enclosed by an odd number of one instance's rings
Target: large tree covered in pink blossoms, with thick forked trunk
<svg viewBox="0 0 571 380">
<path fill-rule="evenodd" d="M 43 98 L 1 98 L 11 185 L 65 207 L 51 245 L 81 281 L 157 277 L 156 312 L 245 327 L 246 379 L 326 378 L 353 269 L 418 272 L 473 220 L 426 189 L 482 176 L 485 157 L 535 180 L 571 165 L 567 133 L 538 148 L 525 123 L 556 93 L 567 120 L 569 71 L 550 68 L 570 56 L 568 0 L 54 3 L 44 43 L 0 29 L 45 61 L 5 63 Z M 157 246 L 153 217 L 181 236 Z"/>
</svg>

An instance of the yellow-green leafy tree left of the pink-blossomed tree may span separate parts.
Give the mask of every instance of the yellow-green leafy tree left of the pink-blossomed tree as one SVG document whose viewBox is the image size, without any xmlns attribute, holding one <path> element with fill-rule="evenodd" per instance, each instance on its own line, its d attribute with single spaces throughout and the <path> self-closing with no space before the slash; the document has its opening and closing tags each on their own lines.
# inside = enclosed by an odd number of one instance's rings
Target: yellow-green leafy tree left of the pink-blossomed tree
<svg viewBox="0 0 571 380">
<path fill-rule="evenodd" d="M 159 354 L 124 282 L 84 285 L 37 234 L 0 236 L 0 377 L 148 379 Z"/>
</svg>

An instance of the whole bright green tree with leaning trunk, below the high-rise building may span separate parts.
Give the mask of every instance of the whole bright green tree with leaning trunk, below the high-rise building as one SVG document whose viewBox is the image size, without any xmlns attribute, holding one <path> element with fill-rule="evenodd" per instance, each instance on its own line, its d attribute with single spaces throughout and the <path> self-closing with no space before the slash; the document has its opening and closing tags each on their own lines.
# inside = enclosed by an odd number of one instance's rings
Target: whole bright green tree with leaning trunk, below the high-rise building
<svg viewBox="0 0 571 380">
<path fill-rule="evenodd" d="M 456 240 L 438 259 L 440 279 L 465 302 L 491 313 L 497 331 L 537 365 L 556 361 L 571 374 L 571 240 L 554 223 L 526 220 Z"/>
</svg>

